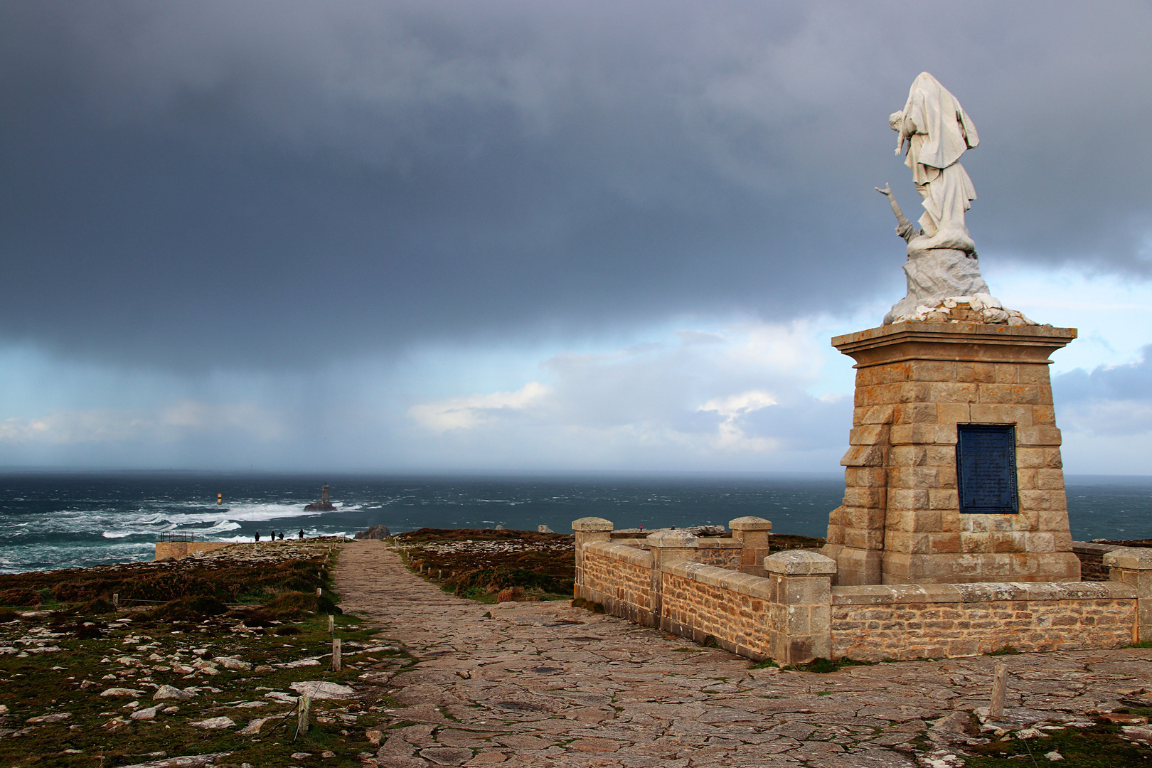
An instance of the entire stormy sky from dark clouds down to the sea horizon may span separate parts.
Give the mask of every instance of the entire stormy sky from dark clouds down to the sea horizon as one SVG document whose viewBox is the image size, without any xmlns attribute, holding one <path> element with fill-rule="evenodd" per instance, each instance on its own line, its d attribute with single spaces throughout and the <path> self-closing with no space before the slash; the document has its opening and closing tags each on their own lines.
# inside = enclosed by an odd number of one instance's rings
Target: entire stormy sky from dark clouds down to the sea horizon
<svg viewBox="0 0 1152 768">
<path fill-rule="evenodd" d="M 0 466 L 835 472 L 922 70 L 1056 352 L 1152 449 L 1146 2 L 0 1 Z"/>
</svg>

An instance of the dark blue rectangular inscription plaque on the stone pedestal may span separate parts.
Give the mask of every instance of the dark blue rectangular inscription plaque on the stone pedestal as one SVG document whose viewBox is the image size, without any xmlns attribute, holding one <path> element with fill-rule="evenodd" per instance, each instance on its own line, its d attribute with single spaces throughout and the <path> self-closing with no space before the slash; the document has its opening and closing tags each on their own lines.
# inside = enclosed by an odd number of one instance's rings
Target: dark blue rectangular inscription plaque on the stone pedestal
<svg viewBox="0 0 1152 768">
<path fill-rule="evenodd" d="M 956 425 L 956 481 L 960 511 L 1015 515 L 1016 427 L 1010 424 Z"/>
</svg>

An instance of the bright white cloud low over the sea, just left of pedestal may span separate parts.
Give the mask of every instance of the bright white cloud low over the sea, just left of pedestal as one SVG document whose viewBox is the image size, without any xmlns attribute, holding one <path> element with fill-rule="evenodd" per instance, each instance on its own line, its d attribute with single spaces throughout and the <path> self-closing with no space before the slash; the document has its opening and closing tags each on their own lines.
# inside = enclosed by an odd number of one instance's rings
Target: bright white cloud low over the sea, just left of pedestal
<svg viewBox="0 0 1152 768">
<path fill-rule="evenodd" d="M 521 389 L 423 402 L 408 415 L 429 450 L 499 444 L 561 466 L 755 469 L 764 454 L 793 449 L 831 457 L 840 446 L 826 446 L 827 435 L 847 429 L 832 426 L 833 415 L 846 409 L 804 391 L 829 357 L 819 335 L 806 324 L 751 321 L 668 329 L 612 350 L 561 352 Z M 805 423 L 799 441 L 788 434 L 796 420 Z M 741 455 L 751 467 L 730 465 Z"/>
</svg>

